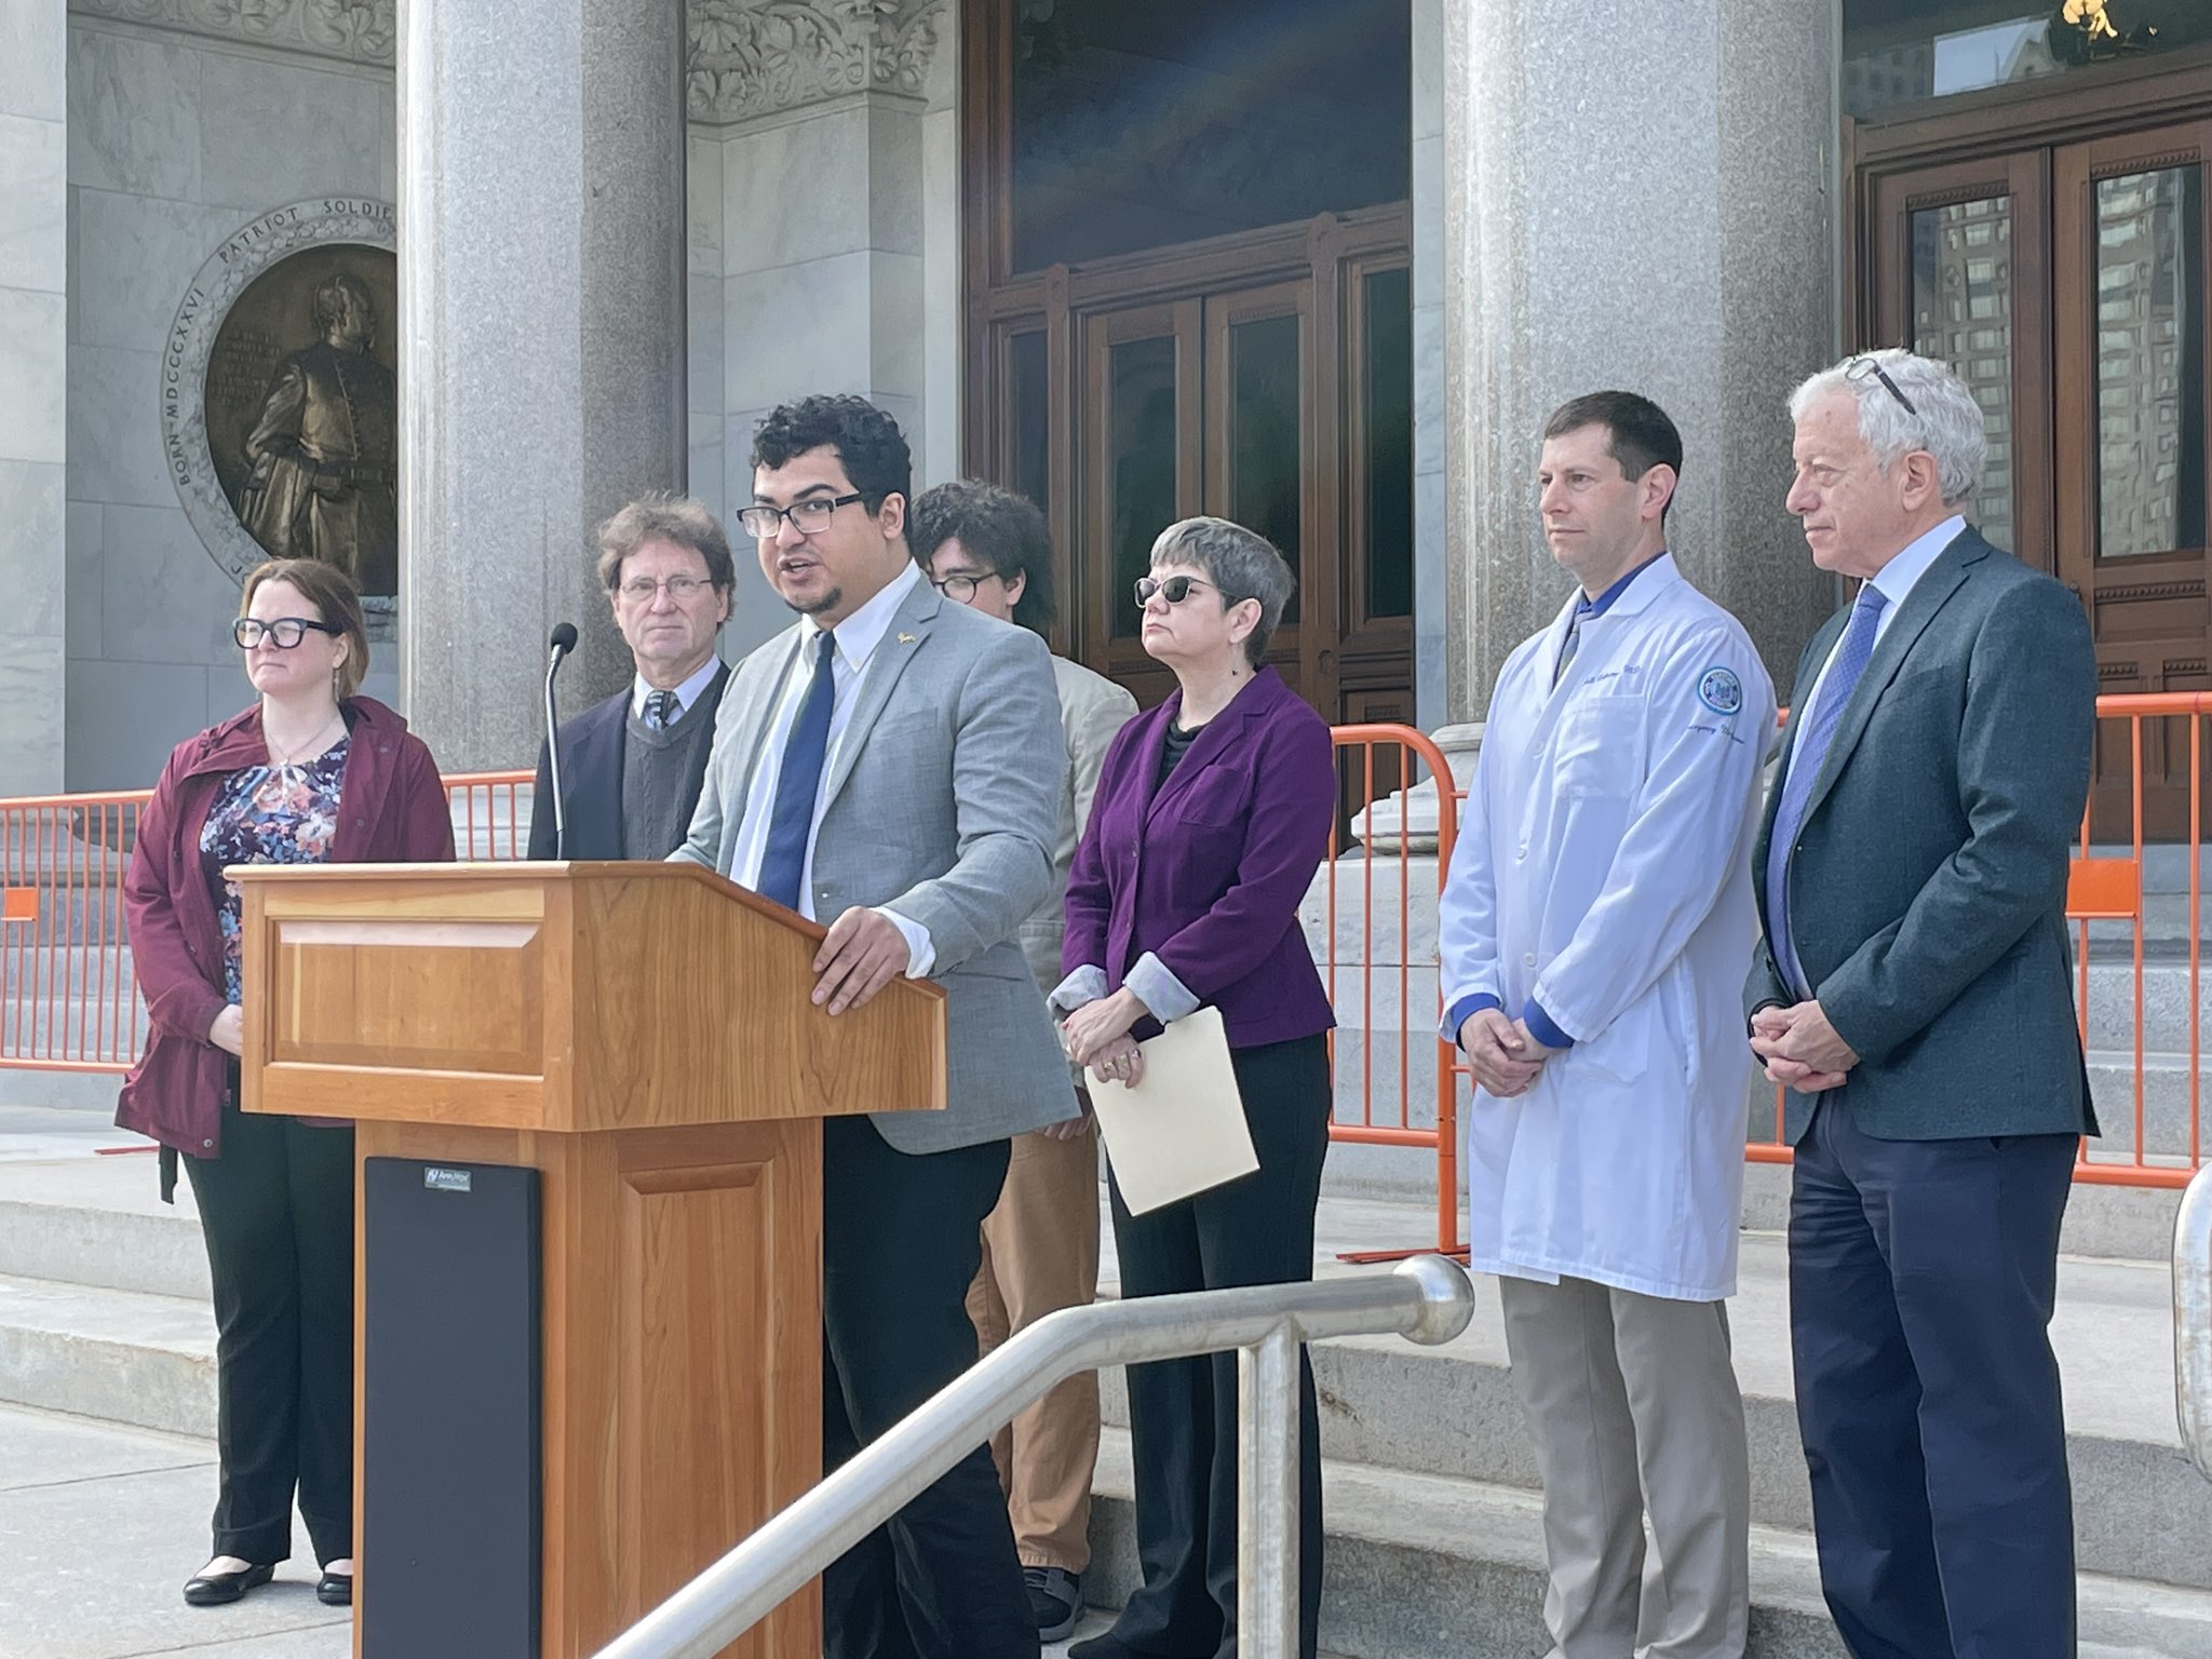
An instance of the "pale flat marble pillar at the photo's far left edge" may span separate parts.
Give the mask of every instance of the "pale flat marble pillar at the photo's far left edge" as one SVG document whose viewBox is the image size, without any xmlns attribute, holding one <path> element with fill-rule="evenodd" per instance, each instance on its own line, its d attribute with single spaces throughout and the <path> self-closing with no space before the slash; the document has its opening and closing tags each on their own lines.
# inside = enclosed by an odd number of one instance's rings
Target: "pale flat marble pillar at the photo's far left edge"
<svg viewBox="0 0 2212 1659">
<path fill-rule="evenodd" d="M 69 13 L 0 9 L 0 796 L 62 787 Z"/>
</svg>

